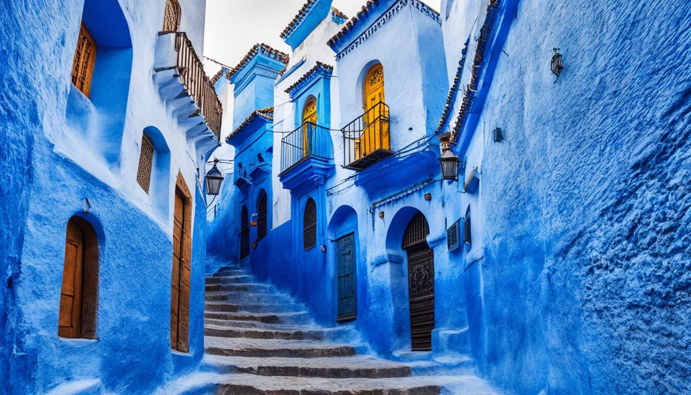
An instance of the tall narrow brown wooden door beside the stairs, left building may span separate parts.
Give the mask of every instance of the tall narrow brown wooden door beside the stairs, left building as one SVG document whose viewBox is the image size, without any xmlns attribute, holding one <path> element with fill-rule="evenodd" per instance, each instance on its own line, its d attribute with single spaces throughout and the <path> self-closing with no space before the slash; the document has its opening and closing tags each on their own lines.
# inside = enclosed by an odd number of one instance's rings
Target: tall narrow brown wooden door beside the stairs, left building
<svg viewBox="0 0 691 395">
<path fill-rule="evenodd" d="M 189 216 L 187 199 L 176 190 L 173 216 L 173 279 L 171 284 L 171 348 L 189 349 Z"/>
</svg>

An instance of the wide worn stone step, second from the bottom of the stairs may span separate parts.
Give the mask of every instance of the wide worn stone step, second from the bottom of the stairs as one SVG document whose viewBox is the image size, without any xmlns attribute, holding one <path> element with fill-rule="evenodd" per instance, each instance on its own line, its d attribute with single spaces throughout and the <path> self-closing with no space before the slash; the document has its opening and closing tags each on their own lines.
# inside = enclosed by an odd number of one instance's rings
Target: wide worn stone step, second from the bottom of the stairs
<svg viewBox="0 0 691 395">
<path fill-rule="evenodd" d="M 206 355 L 202 362 L 221 373 L 249 373 L 259 376 L 322 378 L 389 378 L 411 376 L 409 366 L 374 358 L 253 358 Z"/>
</svg>

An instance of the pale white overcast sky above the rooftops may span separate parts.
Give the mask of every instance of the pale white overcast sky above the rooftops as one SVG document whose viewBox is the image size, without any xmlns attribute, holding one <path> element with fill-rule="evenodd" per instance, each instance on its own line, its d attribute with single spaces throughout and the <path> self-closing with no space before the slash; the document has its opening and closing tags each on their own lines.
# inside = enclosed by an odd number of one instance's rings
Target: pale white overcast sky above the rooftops
<svg viewBox="0 0 691 395">
<path fill-rule="evenodd" d="M 334 0 L 332 6 L 352 17 L 367 0 Z M 424 0 L 439 10 L 441 0 Z M 281 34 L 305 0 L 207 0 L 204 55 L 218 62 L 235 66 L 249 48 L 258 42 L 290 52 L 278 35 Z M 220 66 L 205 62 L 208 75 Z"/>
</svg>

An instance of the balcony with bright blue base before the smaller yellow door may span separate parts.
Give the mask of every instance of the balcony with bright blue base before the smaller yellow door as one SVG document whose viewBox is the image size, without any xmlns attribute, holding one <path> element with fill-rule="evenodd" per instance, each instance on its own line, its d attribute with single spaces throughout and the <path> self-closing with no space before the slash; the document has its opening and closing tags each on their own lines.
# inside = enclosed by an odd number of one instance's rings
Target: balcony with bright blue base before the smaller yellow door
<svg viewBox="0 0 691 395">
<path fill-rule="evenodd" d="M 329 129 L 305 122 L 281 138 L 283 187 L 294 192 L 322 185 L 334 172 Z"/>
</svg>

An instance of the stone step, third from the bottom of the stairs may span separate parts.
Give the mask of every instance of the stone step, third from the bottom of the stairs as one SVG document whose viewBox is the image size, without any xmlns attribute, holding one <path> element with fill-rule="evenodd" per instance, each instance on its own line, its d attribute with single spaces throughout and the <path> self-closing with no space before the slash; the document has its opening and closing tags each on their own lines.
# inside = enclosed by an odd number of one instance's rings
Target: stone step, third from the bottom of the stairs
<svg viewBox="0 0 691 395">
<path fill-rule="evenodd" d="M 311 340 L 219 338 L 216 336 L 205 336 L 204 347 L 207 353 L 222 356 L 323 358 L 355 355 L 355 349 L 352 346 L 315 342 Z"/>
</svg>

